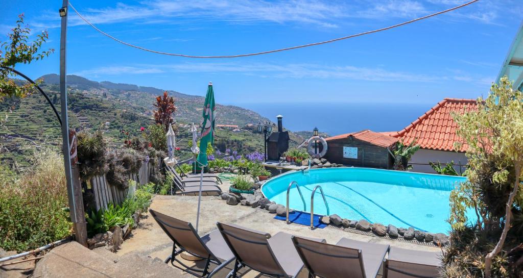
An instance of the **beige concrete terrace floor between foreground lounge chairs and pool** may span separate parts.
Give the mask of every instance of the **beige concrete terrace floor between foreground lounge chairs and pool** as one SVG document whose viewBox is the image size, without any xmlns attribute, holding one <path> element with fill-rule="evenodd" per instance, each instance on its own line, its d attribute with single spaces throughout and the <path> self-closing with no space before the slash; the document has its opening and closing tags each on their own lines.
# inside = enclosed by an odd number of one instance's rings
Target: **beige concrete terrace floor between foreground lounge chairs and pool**
<svg viewBox="0 0 523 278">
<path fill-rule="evenodd" d="M 229 183 L 224 182 L 221 188 L 223 191 L 228 191 Z M 196 226 L 197 204 L 198 196 L 157 195 L 153 199 L 151 208 L 166 215 L 191 222 L 194 226 Z M 437 247 L 418 245 L 406 241 L 360 235 L 328 227 L 324 229 L 311 230 L 309 227 L 303 225 L 288 225 L 285 223 L 285 221 L 274 219 L 275 214 L 269 214 L 268 212 L 259 208 L 251 208 L 242 206 L 240 204 L 235 206 L 227 205 L 225 204 L 225 201 L 221 200 L 219 196 L 202 196 L 200 212 L 201 214 L 198 234 L 201 236 L 216 229 L 217 222 L 223 222 L 234 223 L 247 228 L 265 231 L 271 235 L 274 235 L 279 231 L 285 231 L 286 233 L 297 236 L 324 238 L 329 244 L 335 244 L 340 238 L 347 237 L 360 241 L 388 244 L 391 246 L 413 250 L 440 250 Z M 167 237 L 167 235 L 165 235 L 163 230 L 156 224 L 149 213 L 142 217 L 139 227 L 133 230 L 132 234 L 132 237 L 125 240 L 121 245 L 120 250 L 118 250 L 116 253 L 118 256 L 132 253 L 138 254 L 139 256 L 160 258 L 164 260 L 172 252 L 173 242 Z M 188 262 L 188 264 L 191 265 L 194 263 Z M 231 265 L 220 271 L 214 277 L 225 277 L 232 267 L 233 265 L 231 263 Z M 180 274 L 187 277 L 192 276 L 182 272 L 181 270 Z M 301 273 L 300 276 L 303 275 L 305 274 Z M 255 273 L 254 271 L 247 271 L 247 273 L 244 275 L 244 277 L 257 276 L 261 275 L 259 275 L 259 273 Z M 304 277 L 306 277 L 306 275 Z"/>
</svg>

